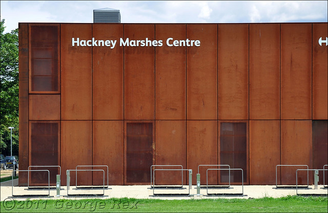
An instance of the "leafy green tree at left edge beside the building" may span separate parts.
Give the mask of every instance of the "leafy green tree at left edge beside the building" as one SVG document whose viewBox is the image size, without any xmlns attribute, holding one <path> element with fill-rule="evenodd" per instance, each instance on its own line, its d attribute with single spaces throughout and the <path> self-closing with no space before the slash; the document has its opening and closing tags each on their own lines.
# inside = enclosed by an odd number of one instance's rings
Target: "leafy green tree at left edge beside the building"
<svg viewBox="0 0 328 213">
<path fill-rule="evenodd" d="M 10 130 L 12 130 L 12 155 L 18 155 L 18 28 L 5 31 L 1 20 L 1 154 L 10 155 Z"/>
</svg>

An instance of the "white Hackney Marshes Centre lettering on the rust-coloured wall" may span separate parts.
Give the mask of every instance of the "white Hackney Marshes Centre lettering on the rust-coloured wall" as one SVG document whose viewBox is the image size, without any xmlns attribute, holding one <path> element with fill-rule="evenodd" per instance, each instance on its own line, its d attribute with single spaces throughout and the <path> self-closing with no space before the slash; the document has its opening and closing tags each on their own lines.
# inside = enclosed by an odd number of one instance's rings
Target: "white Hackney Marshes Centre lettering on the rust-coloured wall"
<svg viewBox="0 0 328 213">
<path fill-rule="evenodd" d="M 110 47 L 115 48 L 117 40 L 96 40 L 92 38 L 90 40 L 84 40 L 80 38 L 72 38 L 72 47 L 82 46 L 82 47 Z M 174 40 L 173 38 L 168 38 L 166 40 L 166 45 L 168 47 L 192 47 L 200 46 L 200 40 Z M 161 47 L 163 46 L 163 40 L 150 40 L 146 38 L 145 40 L 130 40 L 129 38 L 123 39 L 119 38 L 120 47 Z"/>
</svg>

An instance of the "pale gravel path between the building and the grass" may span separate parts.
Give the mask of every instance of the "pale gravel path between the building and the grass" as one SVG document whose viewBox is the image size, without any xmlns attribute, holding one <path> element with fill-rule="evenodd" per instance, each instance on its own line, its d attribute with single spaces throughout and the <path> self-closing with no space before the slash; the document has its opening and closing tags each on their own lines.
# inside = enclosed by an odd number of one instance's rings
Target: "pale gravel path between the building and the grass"
<svg viewBox="0 0 328 213">
<path fill-rule="evenodd" d="M 18 187 L 18 179 L 14 180 L 14 187 L 11 186 L 11 181 L 1 183 L 1 201 L 12 197 L 14 195 L 47 195 L 48 189 L 38 189 L 31 190 L 27 187 Z M 296 195 L 296 189 L 277 189 L 275 185 L 245 185 L 243 187 L 243 196 L 207 196 L 207 190 L 200 189 L 200 196 L 197 196 L 196 185 L 193 185 L 190 194 L 192 196 L 153 196 L 155 194 L 188 194 L 189 186 L 184 185 L 184 189 L 155 189 L 153 191 L 150 188 L 150 185 L 128 185 L 128 186 L 117 186 L 109 185 L 108 189 L 105 189 L 105 196 L 99 198 L 139 198 L 139 199 L 201 199 L 201 198 L 243 198 L 243 199 L 252 199 L 252 198 L 262 198 L 262 197 L 285 197 L 288 195 Z M 209 193 L 230 193 L 230 194 L 240 194 L 242 193 L 242 186 L 232 185 L 231 189 L 209 189 Z M 298 189 L 299 194 L 327 194 L 327 188 L 323 188 L 323 185 L 319 185 L 318 189 L 314 189 L 314 186 L 309 186 L 310 189 Z M 75 185 L 70 187 L 69 194 L 103 194 L 104 189 L 75 189 Z M 60 199 L 83 199 L 86 197 L 67 197 L 67 187 L 61 186 L 60 190 Z M 95 197 L 92 197 L 95 198 Z M 27 199 L 24 198 L 15 198 L 15 199 Z M 36 198 L 31 198 L 36 199 Z M 56 197 L 56 189 L 50 189 L 50 199 L 58 199 Z"/>
</svg>

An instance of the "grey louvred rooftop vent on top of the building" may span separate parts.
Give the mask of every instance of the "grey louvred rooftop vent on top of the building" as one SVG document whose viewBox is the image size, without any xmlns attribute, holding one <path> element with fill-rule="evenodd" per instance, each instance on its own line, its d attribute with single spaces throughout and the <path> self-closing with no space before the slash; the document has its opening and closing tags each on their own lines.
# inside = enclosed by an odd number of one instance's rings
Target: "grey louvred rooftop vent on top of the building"
<svg viewBox="0 0 328 213">
<path fill-rule="evenodd" d="M 121 23 L 121 14 L 116 9 L 96 9 L 93 10 L 93 23 Z"/>
</svg>

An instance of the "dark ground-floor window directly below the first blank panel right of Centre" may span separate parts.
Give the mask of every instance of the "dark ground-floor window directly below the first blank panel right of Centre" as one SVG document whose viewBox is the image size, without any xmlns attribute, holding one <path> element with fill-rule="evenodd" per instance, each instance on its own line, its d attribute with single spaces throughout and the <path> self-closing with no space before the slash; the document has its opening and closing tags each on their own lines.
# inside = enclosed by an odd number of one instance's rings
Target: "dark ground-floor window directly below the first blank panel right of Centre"
<svg viewBox="0 0 328 213">
<path fill-rule="evenodd" d="M 221 123 L 220 164 L 243 170 L 247 182 L 247 123 Z M 229 171 L 220 171 L 221 182 L 229 182 Z M 241 171 L 231 171 L 231 182 L 241 183 Z"/>
</svg>

